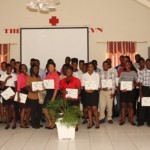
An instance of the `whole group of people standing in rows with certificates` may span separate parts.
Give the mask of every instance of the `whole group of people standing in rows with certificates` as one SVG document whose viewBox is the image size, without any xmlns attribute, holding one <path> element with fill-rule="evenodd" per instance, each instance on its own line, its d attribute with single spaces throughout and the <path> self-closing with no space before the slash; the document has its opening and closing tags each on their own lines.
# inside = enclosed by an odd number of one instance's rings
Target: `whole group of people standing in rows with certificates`
<svg viewBox="0 0 150 150">
<path fill-rule="evenodd" d="M 54 129 L 55 122 L 49 115 L 47 104 L 55 101 L 57 96 L 67 100 L 70 105 L 80 107 L 82 104 L 83 124 L 88 123 L 90 129 L 95 125 L 106 122 L 113 124 L 113 116 L 121 116 L 119 125 L 125 124 L 126 116 L 131 125 L 142 126 L 147 123 L 150 127 L 150 106 L 142 105 L 143 97 L 150 97 L 150 59 L 145 60 L 139 54 L 135 55 L 136 63 L 130 57 L 120 56 L 120 65 L 112 67 L 111 59 L 106 59 L 102 69 L 97 61 L 84 62 L 77 58 L 65 58 L 61 70 L 49 59 L 46 69 L 40 68 L 40 61 L 32 58 L 30 67 L 15 59 L 10 63 L 2 62 L 0 71 L 1 93 L 11 88 L 17 93 L 9 99 L 0 97 L 0 123 L 6 123 L 5 129 L 16 129 L 16 122 L 21 128 L 38 129 L 43 127 L 41 120 L 47 120 L 46 129 Z M 46 96 L 43 104 L 39 103 L 39 91 L 33 91 L 32 83 L 43 80 L 53 80 L 54 88 L 45 89 Z M 130 82 L 131 89 L 122 89 L 122 83 Z M 66 89 L 77 89 L 77 97 L 67 97 Z M 21 94 L 27 95 L 25 103 L 21 103 Z M 135 122 L 135 116 L 137 123 Z M 76 129 L 78 130 L 78 129 Z"/>
</svg>

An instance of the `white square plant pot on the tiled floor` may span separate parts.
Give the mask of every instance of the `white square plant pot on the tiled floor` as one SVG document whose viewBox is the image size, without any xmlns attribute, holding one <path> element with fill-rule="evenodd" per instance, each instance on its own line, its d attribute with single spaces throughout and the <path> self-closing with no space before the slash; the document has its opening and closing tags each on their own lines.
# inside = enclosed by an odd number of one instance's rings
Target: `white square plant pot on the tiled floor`
<svg viewBox="0 0 150 150">
<path fill-rule="evenodd" d="M 58 139 L 75 139 L 75 127 L 67 127 L 60 122 L 60 119 L 56 122 Z"/>
</svg>

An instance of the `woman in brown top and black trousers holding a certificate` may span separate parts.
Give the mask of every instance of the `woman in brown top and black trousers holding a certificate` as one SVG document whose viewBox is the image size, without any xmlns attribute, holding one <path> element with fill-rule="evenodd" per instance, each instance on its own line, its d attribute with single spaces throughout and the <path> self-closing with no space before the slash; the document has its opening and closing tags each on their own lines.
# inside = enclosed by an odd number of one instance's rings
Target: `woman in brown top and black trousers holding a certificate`
<svg viewBox="0 0 150 150">
<path fill-rule="evenodd" d="M 41 77 L 39 76 L 39 67 L 37 65 L 32 65 L 30 69 L 30 76 L 27 77 L 26 83 L 28 93 L 27 99 L 27 122 L 29 120 L 29 116 L 31 113 L 31 125 L 33 128 L 38 129 L 41 127 L 40 125 L 40 118 L 41 118 L 41 106 L 38 103 L 38 91 L 42 90 L 41 86 Z"/>
</svg>

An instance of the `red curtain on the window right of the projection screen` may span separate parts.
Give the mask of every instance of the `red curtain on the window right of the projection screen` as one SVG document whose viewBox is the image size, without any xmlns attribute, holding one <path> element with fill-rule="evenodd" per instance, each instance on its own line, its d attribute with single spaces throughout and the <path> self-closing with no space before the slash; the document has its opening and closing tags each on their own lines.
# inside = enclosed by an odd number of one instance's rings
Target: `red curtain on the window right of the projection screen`
<svg viewBox="0 0 150 150">
<path fill-rule="evenodd" d="M 136 42 L 132 41 L 110 41 L 107 42 L 108 57 L 111 58 L 113 66 L 120 63 L 120 56 L 129 56 L 134 62 L 134 55 L 136 53 Z"/>
</svg>

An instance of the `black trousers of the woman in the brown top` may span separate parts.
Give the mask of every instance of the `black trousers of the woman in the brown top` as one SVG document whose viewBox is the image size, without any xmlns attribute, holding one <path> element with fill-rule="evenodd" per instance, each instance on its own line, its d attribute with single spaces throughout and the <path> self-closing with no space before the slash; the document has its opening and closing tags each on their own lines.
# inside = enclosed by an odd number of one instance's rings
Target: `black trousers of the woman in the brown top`
<svg viewBox="0 0 150 150">
<path fill-rule="evenodd" d="M 31 125 L 32 127 L 40 125 L 40 119 L 42 115 L 42 105 L 38 103 L 38 100 L 31 100 Z"/>
</svg>

